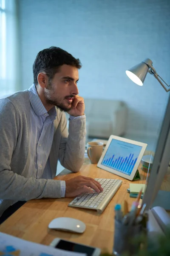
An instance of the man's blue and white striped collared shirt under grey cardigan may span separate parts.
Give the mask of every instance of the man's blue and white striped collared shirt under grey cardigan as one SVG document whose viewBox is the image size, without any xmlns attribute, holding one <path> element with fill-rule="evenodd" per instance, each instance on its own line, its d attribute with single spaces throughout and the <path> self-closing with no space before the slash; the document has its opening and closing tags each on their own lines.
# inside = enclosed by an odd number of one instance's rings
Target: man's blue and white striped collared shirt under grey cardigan
<svg viewBox="0 0 170 256">
<path fill-rule="evenodd" d="M 28 89 L 31 105 L 30 149 L 28 177 L 52 179 L 49 154 L 54 135 L 56 109 L 46 111 L 34 84 Z M 60 180 L 61 197 L 65 197 L 65 181 Z"/>
</svg>

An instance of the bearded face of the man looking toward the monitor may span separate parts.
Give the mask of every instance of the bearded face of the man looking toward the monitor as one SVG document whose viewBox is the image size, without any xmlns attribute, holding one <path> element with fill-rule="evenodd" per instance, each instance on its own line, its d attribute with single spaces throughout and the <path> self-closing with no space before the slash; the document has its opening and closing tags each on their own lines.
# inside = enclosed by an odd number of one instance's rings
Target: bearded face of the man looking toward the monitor
<svg viewBox="0 0 170 256">
<path fill-rule="evenodd" d="M 44 89 L 45 100 L 48 104 L 55 105 L 62 111 L 69 111 L 72 106 L 74 96 L 79 93 L 77 82 L 79 72 L 77 67 L 62 65 L 59 72 L 49 82 Z"/>
</svg>

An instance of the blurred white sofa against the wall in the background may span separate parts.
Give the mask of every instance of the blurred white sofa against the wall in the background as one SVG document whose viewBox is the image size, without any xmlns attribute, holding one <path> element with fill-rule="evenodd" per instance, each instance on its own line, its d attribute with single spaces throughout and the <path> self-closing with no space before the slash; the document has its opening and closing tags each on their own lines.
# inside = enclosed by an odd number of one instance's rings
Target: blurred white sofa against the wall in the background
<svg viewBox="0 0 170 256">
<path fill-rule="evenodd" d="M 126 131 L 127 106 L 119 100 L 84 99 L 87 136 L 109 138 Z"/>
</svg>

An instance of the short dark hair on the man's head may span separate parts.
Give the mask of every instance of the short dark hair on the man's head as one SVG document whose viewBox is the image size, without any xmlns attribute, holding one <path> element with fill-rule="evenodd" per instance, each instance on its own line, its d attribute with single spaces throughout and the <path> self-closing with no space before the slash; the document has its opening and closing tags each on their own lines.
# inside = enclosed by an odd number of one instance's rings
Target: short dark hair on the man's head
<svg viewBox="0 0 170 256">
<path fill-rule="evenodd" d="M 59 47 L 52 46 L 40 51 L 33 64 L 34 84 L 37 86 L 37 76 L 42 71 L 46 73 L 49 80 L 53 79 L 59 67 L 63 64 L 71 65 L 78 69 L 82 67 L 78 58 L 74 58 L 70 53 Z"/>
</svg>

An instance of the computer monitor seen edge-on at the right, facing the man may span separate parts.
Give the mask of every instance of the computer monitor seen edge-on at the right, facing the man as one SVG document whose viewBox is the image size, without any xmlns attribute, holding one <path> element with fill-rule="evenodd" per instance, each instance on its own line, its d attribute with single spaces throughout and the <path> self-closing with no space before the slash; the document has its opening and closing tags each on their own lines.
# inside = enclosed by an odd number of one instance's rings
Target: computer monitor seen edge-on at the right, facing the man
<svg viewBox="0 0 170 256">
<path fill-rule="evenodd" d="M 148 179 L 147 188 L 144 193 L 142 204 L 146 204 L 146 210 L 150 209 L 153 205 L 154 200 L 157 200 L 157 195 L 161 187 L 161 183 L 164 180 L 164 176 L 167 172 L 168 165 L 170 163 L 170 97 L 167 103 L 167 108 L 164 115 L 164 120 L 161 126 L 161 131 L 159 134 L 159 140 L 156 147 L 156 153 L 153 160 L 153 166 L 150 171 L 150 177 Z M 169 193 L 165 192 L 165 195 Z M 157 202 L 161 206 L 160 202 Z M 170 198 L 167 197 L 166 207 L 170 210 Z"/>
</svg>

